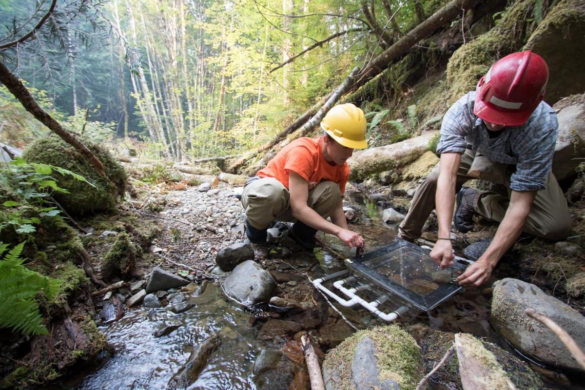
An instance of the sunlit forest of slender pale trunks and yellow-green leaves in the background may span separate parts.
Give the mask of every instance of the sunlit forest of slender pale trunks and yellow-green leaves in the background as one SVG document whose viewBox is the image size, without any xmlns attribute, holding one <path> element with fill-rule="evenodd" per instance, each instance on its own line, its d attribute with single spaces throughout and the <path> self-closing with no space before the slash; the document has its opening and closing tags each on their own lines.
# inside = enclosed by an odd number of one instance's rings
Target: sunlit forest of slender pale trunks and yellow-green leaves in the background
<svg viewBox="0 0 585 390">
<path fill-rule="evenodd" d="M 15 26 L 30 30 L 50 3 L 1 0 L 2 36 L 14 33 Z M 67 129 L 130 149 L 137 147 L 130 143 L 139 143 L 144 153 L 178 161 L 238 154 L 263 144 L 331 92 L 352 67 L 364 67 L 392 35 L 400 36 L 441 5 L 74 3 L 77 11 L 60 21 L 63 29 L 52 46 L 30 39 L 3 52 L 6 65 Z M 0 99 L 2 141 L 23 146 L 48 131 L 4 86 Z"/>
</svg>

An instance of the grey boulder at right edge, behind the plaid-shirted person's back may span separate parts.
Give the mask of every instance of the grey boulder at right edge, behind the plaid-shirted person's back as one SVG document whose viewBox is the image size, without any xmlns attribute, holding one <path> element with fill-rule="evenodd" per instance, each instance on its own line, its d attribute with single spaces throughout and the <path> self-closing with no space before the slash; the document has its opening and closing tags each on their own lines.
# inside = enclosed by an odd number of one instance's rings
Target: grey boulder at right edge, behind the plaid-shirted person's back
<svg viewBox="0 0 585 390">
<path fill-rule="evenodd" d="M 562 99 L 553 108 L 559 119 L 552 171 L 557 180 L 577 174 L 585 157 L 585 94 Z"/>
</svg>

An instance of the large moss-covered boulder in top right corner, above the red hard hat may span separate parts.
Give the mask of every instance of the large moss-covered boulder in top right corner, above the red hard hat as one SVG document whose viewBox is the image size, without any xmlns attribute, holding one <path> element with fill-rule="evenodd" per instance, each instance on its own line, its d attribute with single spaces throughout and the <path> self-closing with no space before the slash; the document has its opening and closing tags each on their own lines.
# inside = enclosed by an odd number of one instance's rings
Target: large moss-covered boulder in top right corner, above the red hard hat
<svg viewBox="0 0 585 390">
<path fill-rule="evenodd" d="M 550 104 L 585 91 L 585 51 L 577 49 L 583 47 L 584 41 L 585 4 L 579 0 L 565 0 L 546 14 L 526 42 L 524 49 L 538 53 L 548 65 L 545 99 Z"/>
</svg>

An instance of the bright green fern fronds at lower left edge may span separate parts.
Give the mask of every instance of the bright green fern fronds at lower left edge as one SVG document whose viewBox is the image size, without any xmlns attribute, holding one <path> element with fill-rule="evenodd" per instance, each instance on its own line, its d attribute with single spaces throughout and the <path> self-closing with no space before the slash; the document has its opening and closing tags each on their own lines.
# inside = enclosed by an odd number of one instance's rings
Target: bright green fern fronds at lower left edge
<svg viewBox="0 0 585 390">
<path fill-rule="evenodd" d="M 43 294 L 48 300 L 56 298 L 63 283 L 58 279 L 30 271 L 20 258 L 24 243 L 8 251 L 0 260 L 0 328 L 12 327 L 14 332 L 26 334 L 48 334 L 35 300 Z M 0 255 L 8 248 L 0 243 Z"/>
</svg>

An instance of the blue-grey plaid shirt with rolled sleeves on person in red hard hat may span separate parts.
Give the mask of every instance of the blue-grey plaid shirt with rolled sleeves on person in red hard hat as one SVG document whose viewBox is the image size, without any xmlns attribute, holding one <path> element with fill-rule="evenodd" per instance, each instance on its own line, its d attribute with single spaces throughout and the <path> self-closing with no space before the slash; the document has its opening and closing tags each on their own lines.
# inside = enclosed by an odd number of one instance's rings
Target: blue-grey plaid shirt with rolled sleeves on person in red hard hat
<svg viewBox="0 0 585 390">
<path fill-rule="evenodd" d="M 555 111 L 541 102 L 521 126 L 509 126 L 490 139 L 483 120 L 473 114 L 475 92 L 455 102 L 443 118 L 438 153 L 463 153 L 468 145 L 495 163 L 516 164 L 510 188 L 514 191 L 545 189 L 552 167 L 558 122 Z"/>
</svg>

